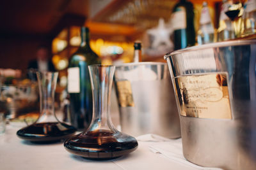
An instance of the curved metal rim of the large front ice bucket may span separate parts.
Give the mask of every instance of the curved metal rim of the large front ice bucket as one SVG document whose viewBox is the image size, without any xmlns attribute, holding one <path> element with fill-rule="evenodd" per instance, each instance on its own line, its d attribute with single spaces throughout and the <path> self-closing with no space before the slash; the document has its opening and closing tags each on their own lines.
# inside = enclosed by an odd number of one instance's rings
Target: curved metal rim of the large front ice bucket
<svg viewBox="0 0 256 170">
<path fill-rule="evenodd" d="M 164 55 L 164 59 L 166 60 L 168 57 L 172 55 L 177 55 L 179 53 L 186 53 L 186 52 L 193 52 L 197 50 L 204 50 L 206 48 L 219 48 L 224 46 L 239 46 L 239 45 L 250 45 L 250 44 L 256 44 L 256 39 L 239 39 L 239 40 L 230 40 L 230 41 L 223 41 L 218 43 L 209 43 L 205 45 L 198 45 L 198 46 L 191 46 L 188 48 L 175 50 L 173 52 L 168 52 L 166 55 Z"/>
</svg>

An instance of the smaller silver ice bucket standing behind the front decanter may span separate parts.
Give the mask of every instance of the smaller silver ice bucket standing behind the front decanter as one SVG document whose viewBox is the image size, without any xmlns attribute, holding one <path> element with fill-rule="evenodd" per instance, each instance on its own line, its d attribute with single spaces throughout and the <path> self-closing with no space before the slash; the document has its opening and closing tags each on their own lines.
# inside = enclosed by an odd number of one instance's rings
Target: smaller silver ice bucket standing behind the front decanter
<svg viewBox="0 0 256 170">
<path fill-rule="evenodd" d="M 179 113 L 166 63 L 116 66 L 114 81 L 122 132 L 180 138 Z"/>
</svg>

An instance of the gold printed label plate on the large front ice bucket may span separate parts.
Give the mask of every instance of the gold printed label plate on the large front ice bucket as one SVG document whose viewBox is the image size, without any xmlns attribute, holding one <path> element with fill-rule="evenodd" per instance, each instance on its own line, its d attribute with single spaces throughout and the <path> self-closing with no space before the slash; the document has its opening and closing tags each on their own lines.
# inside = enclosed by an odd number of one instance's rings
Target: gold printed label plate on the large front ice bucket
<svg viewBox="0 0 256 170">
<path fill-rule="evenodd" d="M 232 118 L 227 73 L 179 76 L 175 83 L 182 116 Z"/>
</svg>

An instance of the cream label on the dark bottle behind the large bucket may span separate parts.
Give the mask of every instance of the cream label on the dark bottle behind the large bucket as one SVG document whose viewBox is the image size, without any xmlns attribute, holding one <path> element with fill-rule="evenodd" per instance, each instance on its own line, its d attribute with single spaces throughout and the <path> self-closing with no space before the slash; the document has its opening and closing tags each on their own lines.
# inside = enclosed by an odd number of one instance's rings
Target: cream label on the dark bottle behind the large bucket
<svg viewBox="0 0 256 170">
<path fill-rule="evenodd" d="M 177 11 L 172 14 L 172 27 L 173 30 L 186 29 L 186 9 L 183 6 L 177 8 Z"/>
</svg>

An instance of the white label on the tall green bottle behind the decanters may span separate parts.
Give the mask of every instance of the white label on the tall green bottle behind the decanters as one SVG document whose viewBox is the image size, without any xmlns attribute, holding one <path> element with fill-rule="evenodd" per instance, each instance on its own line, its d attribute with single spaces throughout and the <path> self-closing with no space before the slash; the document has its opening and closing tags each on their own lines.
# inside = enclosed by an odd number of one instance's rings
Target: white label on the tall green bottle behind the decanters
<svg viewBox="0 0 256 170">
<path fill-rule="evenodd" d="M 80 92 L 79 67 L 68 68 L 68 93 Z"/>
</svg>

